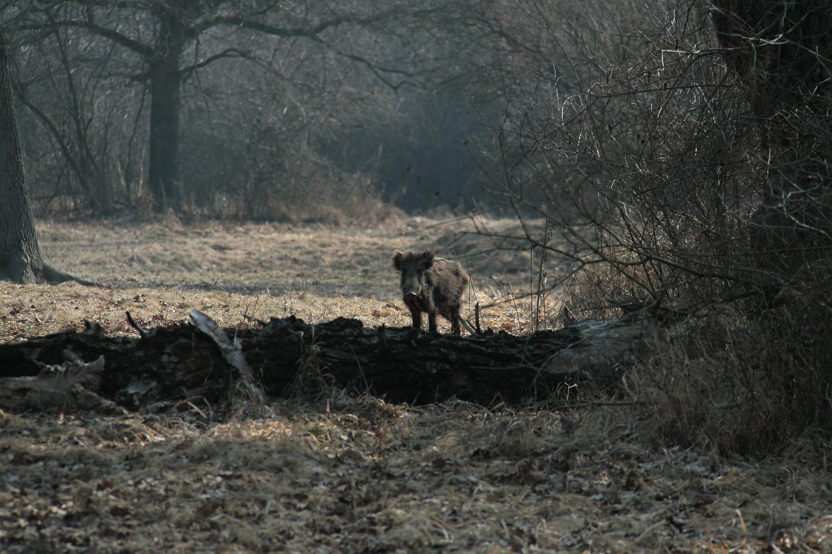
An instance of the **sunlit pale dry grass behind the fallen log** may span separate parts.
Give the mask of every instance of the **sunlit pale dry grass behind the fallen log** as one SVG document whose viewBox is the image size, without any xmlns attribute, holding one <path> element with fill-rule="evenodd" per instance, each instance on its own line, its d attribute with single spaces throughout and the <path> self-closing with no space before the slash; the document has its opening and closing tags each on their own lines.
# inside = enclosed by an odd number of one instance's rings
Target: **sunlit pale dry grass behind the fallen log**
<svg viewBox="0 0 832 554">
<path fill-rule="evenodd" d="M 528 258 L 522 252 L 493 255 L 488 239 L 466 235 L 466 221 L 435 226 L 410 218 L 369 228 L 209 222 L 41 223 L 41 247 L 50 262 L 101 288 L 65 283 L 16 286 L 0 282 L 0 340 L 82 328 L 83 319 L 107 331 L 130 333 L 125 311 L 140 325 L 184 321 L 199 309 L 221 326 L 246 326 L 244 316 L 266 319 L 293 314 L 306 321 L 354 317 L 365 325 L 404 326 L 409 312 L 399 293 L 390 255 L 395 248 L 434 248 L 463 262 L 473 304 L 485 326 L 524 331 L 532 325 Z M 510 228 L 511 222 L 494 222 Z M 466 252 L 468 254 L 466 255 Z M 565 269 L 553 269 L 563 272 Z M 552 326 L 561 299 L 548 298 L 545 325 Z M 439 320 L 448 332 L 448 321 Z"/>
</svg>

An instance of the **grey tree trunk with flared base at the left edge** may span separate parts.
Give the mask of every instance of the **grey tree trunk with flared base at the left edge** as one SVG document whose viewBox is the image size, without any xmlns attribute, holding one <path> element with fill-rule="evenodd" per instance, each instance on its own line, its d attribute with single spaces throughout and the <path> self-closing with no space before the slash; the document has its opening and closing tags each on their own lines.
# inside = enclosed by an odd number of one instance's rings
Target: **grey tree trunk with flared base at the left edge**
<svg viewBox="0 0 832 554">
<path fill-rule="evenodd" d="M 0 279 L 18 283 L 77 280 L 44 262 L 37 243 L 12 101 L 9 47 L 8 35 L 0 27 Z"/>
</svg>

